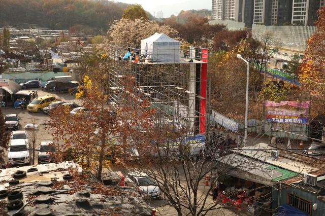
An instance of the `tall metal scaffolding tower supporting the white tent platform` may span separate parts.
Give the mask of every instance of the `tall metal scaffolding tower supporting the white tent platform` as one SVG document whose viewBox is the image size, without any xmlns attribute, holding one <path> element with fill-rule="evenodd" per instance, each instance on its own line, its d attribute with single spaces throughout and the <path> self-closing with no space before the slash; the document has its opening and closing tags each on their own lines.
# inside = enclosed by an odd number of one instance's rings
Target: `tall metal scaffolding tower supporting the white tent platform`
<svg viewBox="0 0 325 216">
<path fill-rule="evenodd" d="M 148 53 L 154 56 L 149 58 Z M 132 102 L 149 102 L 164 124 L 186 126 L 189 135 L 205 133 L 207 49 L 143 50 L 140 45 L 111 45 L 109 57 L 114 61 L 109 71 L 111 104 L 131 101 L 124 97 L 125 92 L 132 92 Z"/>
</svg>

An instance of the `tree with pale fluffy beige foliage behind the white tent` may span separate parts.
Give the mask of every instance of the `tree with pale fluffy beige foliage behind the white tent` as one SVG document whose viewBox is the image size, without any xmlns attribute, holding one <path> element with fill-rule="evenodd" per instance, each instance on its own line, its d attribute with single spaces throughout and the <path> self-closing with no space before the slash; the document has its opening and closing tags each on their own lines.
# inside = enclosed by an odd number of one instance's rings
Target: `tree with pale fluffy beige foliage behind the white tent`
<svg viewBox="0 0 325 216">
<path fill-rule="evenodd" d="M 143 18 L 115 20 L 108 30 L 110 41 L 114 44 L 140 44 L 142 39 L 150 37 L 155 32 L 165 33 L 175 38 L 178 32 L 169 25 L 159 25 Z"/>
</svg>

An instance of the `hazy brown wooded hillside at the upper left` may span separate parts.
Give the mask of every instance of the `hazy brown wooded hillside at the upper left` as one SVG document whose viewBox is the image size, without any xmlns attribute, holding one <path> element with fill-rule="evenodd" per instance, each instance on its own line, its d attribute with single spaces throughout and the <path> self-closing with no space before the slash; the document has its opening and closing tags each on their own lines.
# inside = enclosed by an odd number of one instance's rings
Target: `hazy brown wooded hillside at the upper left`
<svg viewBox="0 0 325 216">
<path fill-rule="evenodd" d="M 0 25 L 29 23 L 52 29 L 75 25 L 106 30 L 128 6 L 106 0 L 0 0 Z"/>
</svg>

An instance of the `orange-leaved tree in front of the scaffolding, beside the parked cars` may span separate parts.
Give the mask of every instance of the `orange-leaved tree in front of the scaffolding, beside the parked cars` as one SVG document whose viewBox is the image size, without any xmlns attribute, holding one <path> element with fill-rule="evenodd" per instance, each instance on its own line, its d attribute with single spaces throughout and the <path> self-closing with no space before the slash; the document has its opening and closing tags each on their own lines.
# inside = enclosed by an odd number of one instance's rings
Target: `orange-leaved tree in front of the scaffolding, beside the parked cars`
<svg viewBox="0 0 325 216">
<path fill-rule="evenodd" d="M 69 106 L 58 107 L 50 113 L 49 128 L 53 130 L 56 161 L 79 161 L 84 168 L 96 170 L 101 179 L 103 167 L 129 155 L 130 137 L 139 136 L 139 130 L 134 128 L 149 126 L 146 118 L 151 110 L 138 112 L 128 106 L 115 107 L 107 103 L 108 96 L 88 76 L 83 83 L 76 97 L 85 109 L 71 114 Z M 145 139 L 141 141 L 144 143 Z"/>
</svg>

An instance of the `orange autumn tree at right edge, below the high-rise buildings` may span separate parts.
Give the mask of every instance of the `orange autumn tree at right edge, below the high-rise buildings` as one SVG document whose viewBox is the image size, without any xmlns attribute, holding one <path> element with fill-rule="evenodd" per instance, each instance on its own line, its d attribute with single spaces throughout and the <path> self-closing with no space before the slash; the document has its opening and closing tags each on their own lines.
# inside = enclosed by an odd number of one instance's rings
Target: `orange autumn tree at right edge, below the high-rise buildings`
<svg viewBox="0 0 325 216">
<path fill-rule="evenodd" d="M 323 113 L 325 106 L 325 8 L 318 11 L 315 24 L 317 29 L 307 41 L 299 82 L 309 94 L 316 95 L 317 103 L 314 103 L 313 107 L 317 113 Z"/>
</svg>

